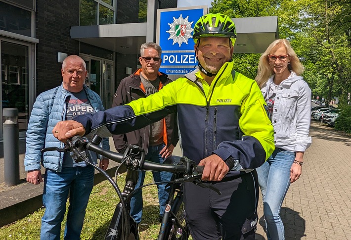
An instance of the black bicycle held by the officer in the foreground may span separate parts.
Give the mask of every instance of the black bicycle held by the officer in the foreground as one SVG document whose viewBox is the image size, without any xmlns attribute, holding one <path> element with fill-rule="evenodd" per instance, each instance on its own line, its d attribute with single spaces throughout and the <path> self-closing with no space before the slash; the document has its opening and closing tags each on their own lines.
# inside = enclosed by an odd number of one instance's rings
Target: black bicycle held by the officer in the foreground
<svg viewBox="0 0 351 240">
<path fill-rule="evenodd" d="M 161 221 L 158 240 L 187 240 L 190 235 L 190 229 L 186 222 L 186 213 L 183 206 L 183 183 L 192 182 L 195 185 L 210 188 L 218 194 L 219 190 L 212 185 L 201 181 L 203 166 L 197 166 L 196 163 L 186 157 L 172 156 L 168 157 L 163 164 L 154 163 L 145 160 L 143 148 L 135 145 L 129 145 L 124 154 L 105 150 L 99 146 L 102 138 L 94 135 L 90 141 L 88 139 L 76 136 L 72 140 L 67 140 L 64 148 L 47 147 L 45 151 L 71 151 L 72 157 L 76 162 L 85 161 L 96 168 L 103 174 L 114 187 L 120 202 L 117 204 L 112 220 L 107 229 L 105 240 L 139 240 L 138 226 L 132 216 L 130 216 L 130 200 L 134 193 L 135 184 L 138 180 L 137 170 L 150 171 L 167 171 L 172 172 L 173 177 L 169 183 L 169 197 L 165 207 L 165 213 Z M 87 150 L 94 151 L 113 161 L 120 163 L 121 166 L 127 167 L 126 183 L 123 192 L 120 191 L 116 182 L 100 167 L 88 161 Z M 116 170 L 116 173 L 118 169 Z M 117 175 L 117 174 L 116 174 Z M 164 182 L 162 182 L 164 183 Z M 160 184 L 160 183 L 152 183 Z M 149 186 L 147 184 L 141 188 Z"/>
</svg>

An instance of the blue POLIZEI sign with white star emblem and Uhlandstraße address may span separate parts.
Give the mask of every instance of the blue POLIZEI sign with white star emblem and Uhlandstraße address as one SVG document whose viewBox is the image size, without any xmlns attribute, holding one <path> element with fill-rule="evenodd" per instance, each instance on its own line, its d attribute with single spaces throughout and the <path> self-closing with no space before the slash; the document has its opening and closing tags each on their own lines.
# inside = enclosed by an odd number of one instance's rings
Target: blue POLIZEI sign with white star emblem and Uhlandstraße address
<svg viewBox="0 0 351 240">
<path fill-rule="evenodd" d="M 207 13 L 207 6 L 157 10 L 156 43 L 162 48 L 161 72 L 183 75 L 194 70 L 197 60 L 192 32 L 197 20 Z"/>
</svg>

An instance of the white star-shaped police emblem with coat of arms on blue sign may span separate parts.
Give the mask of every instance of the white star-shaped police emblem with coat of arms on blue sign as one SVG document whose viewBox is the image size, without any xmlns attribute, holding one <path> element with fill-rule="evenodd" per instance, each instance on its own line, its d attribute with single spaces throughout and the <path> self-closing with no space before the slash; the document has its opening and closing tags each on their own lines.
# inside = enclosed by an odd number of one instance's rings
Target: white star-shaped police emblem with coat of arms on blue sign
<svg viewBox="0 0 351 240">
<path fill-rule="evenodd" d="M 191 38 L 191 32 L 193 28 L 191 28 L 191 24 L 194 22 L 188 21 L 189 16 L 186 18 L 182 18 L 181 14 L 179 18 L 173 17 L 173 23 L 169 23 L 170 30 L 166 31 L 170 34 L 170 37 L 167 40 L 172 39 L 173 44 L 179 44 L 179 47 L 182 43 L 188 44 L 188 39 Z"/>
</svg>

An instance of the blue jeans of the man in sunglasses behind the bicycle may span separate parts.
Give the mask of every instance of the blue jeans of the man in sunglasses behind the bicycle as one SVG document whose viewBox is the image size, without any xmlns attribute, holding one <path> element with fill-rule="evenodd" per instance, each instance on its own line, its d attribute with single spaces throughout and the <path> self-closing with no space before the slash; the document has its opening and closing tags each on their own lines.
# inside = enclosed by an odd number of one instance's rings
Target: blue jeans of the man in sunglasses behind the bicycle
<svg viewBox="0 0 351 240">
<path fill-rule="evenodd" d="M 145 159 L 151 162 L 163 163 L 165 160 L 160 155 L 160 151 L 165 147 L 165 144 L 156 146 L 149 146 Z M 169 172 L 152 172 L 155 182 L 170 181 L 172 173 Z M 135 189 L 139 188 L 144 184 L 145 171 L 139 171 L 138 182 L 135 185 Z M 160 203 L 160 216 L 163 216 L 165 212 L 165 205 L 168 199 L 168 192 L 166 189 L 167 184 L 158 184 L 158 199 Z M 142 190 L 136 191 L 131 198 L 131 216 L 134 218 L 136 223 L 140 223 L 142 215 Z"/>
</svg>

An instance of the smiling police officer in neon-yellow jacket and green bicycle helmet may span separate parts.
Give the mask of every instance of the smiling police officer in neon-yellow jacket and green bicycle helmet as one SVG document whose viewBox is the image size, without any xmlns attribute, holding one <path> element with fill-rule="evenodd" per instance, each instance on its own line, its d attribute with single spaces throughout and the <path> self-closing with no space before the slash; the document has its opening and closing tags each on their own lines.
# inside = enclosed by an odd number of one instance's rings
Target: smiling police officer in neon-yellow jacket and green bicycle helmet
<svg viewBox="0 0 351 240">
<path fill-rule="evenodd" d="M 255 239 L 259 195 L 255 168 L 274 149 L 273 127 L 259 87 L 233 71 L 235 38 L 228 16 L 204 15 L 194 26 L 196 70 L 151 96 L 60 122 L 53 129 L 61 141 L 104 129 L 121 134 L 177 113 L 183 155 L 204 165 L 202 180 L 222 193 L 184 184 L 194 240 Z"/>
</svg>

